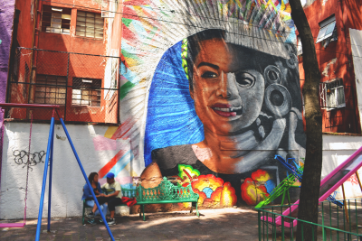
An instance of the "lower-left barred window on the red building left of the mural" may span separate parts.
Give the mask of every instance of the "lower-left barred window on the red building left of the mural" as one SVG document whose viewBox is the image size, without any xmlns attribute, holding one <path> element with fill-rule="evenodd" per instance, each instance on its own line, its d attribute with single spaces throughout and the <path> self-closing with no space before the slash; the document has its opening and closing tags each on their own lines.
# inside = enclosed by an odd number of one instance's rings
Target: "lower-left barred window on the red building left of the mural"
<svg viewBox="0 0 362 241">
<path fill-rule="evenodd" d="M 66 86 L 65 76 L 37 75 L 35 103 L 65 105 Z"/>
</svg>

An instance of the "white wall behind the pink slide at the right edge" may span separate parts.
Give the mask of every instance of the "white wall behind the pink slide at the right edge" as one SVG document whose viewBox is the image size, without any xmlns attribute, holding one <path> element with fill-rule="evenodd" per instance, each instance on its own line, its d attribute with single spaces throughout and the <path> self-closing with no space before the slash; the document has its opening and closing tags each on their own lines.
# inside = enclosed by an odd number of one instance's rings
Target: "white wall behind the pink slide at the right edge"
<svg viewBox="0 0 362 241">
<path fill-rule="evenodd" d="M 323 134 L 323 168 L 322 179 L 329 174 L 330 171 L 338 167 L 339 164 L 345 162 L 348 156 L 355 153 L 362 146 L 362 136 L 357 135 L 332 135 Z M 358 170 L 359 176 L 362 178 L 362 169 Z M 344 183 L 346 198 L 351 199 L 362 196 L 356 175 L 353 175 Z M 338 188 L 336 198 L 343 199 L 342 189 Z"/>
</svg>

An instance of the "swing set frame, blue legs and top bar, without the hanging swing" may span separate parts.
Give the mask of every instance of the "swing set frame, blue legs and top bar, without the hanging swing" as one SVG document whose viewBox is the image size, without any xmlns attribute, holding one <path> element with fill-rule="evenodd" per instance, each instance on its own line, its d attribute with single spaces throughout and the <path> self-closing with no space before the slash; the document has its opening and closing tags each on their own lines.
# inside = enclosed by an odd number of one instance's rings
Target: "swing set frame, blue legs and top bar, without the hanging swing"
<svg viewBox="0 0 362 241">
<path fill-rule="evenodd" d="M 36 236 L 35 236 L 35 240 L 38 241 L 40 238 L 40 233 L 41 233 L 41 226 L 42 226 L 42 216 L 43 216 L 43 202 L 44 202 L 44 195 L 45 195 L 45 186 L 46 186 L 46 178 L 48 175 L 48 167 L 49 167 L 49 198 L 48 198 L 48 226 L 47 226 L 47 231 L 50 232 L 50 228 L 51 228 L 51 207 L 52 207 L 52 153 L 53 153 L 53 139 L 54 139 L 54 124 L 55 124 L 55 113 L 57 114 L 57 116 L 59 117 L 59 120 L 62 124 L 62 128 L 64 130 L 64 133 L 66 134 L 69 144 L 71 144 L 71 150 L 74 153 L 74 156 L 80 166 L 81 169 L 81 173 L 83 174 L 84 180 L 87 182 L 87 185 L 90 187 L 90 191 L 91 194 L 93 196 L 93 199 L 97 205 L 97 208 L 100 209 L 100 203 L 98 202 L 93 189 L 91 188 L 91 184 L 90 181 L 88 180 L 88 177 L 83 169 L 83 166 L 81 165 L 81 160 L 75 150 L 74 145 L 71 142 L 71 136 L 68 133 L 67 128 L 65 127 L 65 124 L 61 118 L 61 115 L 59 115 L 59 109 L 60 106 L 57 105 L 29 105 L 29 104 L 10 104 L 10 103 L 3 103 L 0 104 L 0 107 L 2 108 L 10 108 L 10 107 L 23 107 L 23 108 L 51 108 L 52 109 L 52 119 L 51 119 L 51 126 L 50 126 L 50 130 L 49 130 L 49 137 L 48 137 L 48 144 L 47 144 L 47 149 L 46 149 L 46 157 L 45 157 L 45 163 L 44 163 L 44 171 L 43 171 L 43 184 L 42 184 L 42 194 L 41 194 L 41 199 L 40 199 L 40 205 L 39 205 L 39 213 L 38 213 L 38 223 L 36 226 Z M 4 130 L 4 129 L 3 129 Z M 29 144 L 30 145 L 30 144 Z M 26 198 L 25 198 L 26 199 Z M 25 210 L 26 210 L 26 205 L 25 205 Z M 110 239 L 114 241 L 114 237 L 110 231 L 110 227 L 107 224 L 107 220 L 104 217 L 103 213 L 100 212 L 100 216 L 103 219 L 103 222 L 107 228 L 108 233 L 110 234 Z M 25 217 L 24 217 L 25 220 Z M 13 226 L 14 227 L 14 226 Z M 24 227 L 24 225 L 23 225 Z"/>
</svg>

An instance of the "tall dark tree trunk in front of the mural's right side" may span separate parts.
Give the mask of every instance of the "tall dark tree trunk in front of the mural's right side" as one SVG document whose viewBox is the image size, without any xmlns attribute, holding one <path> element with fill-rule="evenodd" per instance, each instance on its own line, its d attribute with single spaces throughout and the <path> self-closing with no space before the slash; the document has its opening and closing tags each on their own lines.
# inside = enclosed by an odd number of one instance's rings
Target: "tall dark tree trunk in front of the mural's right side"
<svg viewBox="0 0 362 241">
<path fill-rule="evenodd" d="M 297 26 L 303 48 L 305 83 L 303 97 L 306 119 L 306 157 L 300 187 L 298 219 L 318 222 L 320 173 L 322 171 L 322 116 L 319 107 L 320 72 L 310 24 L 300 0 L 290 0 L 291 18 Z M 301 230 L 301 222 L 298 222 Z M 304 240 L 312 240 L 311 226 L 303 224 Z M 315 232 L 316 233 L 316 232 Z M 298 232 L 297 240 L 301 240 Z"/>
</svg>

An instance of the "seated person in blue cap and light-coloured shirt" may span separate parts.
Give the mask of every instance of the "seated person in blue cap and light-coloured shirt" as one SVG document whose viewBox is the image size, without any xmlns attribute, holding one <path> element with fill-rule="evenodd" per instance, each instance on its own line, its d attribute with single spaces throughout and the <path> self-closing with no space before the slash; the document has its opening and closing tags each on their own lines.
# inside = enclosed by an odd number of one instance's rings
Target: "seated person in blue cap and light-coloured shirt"
<svg viewBox="0 0 362 241">
<path fill-rule="evenodd" d="M 116 206 L 122 203 L 122 192 L 120 191 L 120 184 L 114 180 L 114 174 L 109 172 L 107 174 L 107 183 L 101 186 L 102 190 L 106 190 L 108 195 L 104 197 L 108 198 L 108 209 L 110 209 L 110 221 L 108 225 L 115 225 L 114 211 Z"/>
</svg>

